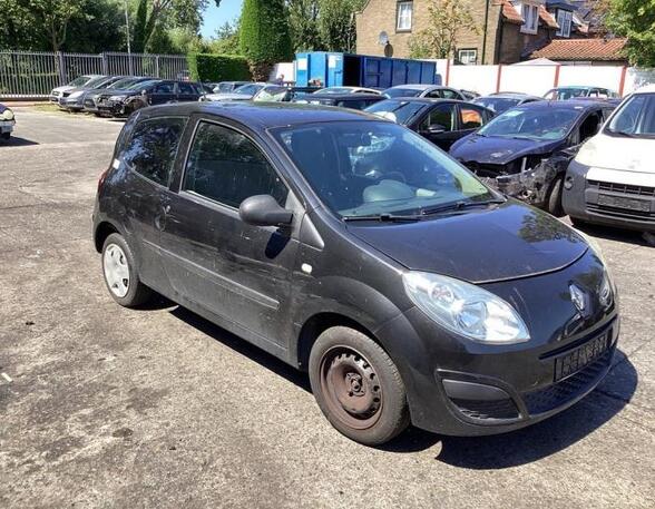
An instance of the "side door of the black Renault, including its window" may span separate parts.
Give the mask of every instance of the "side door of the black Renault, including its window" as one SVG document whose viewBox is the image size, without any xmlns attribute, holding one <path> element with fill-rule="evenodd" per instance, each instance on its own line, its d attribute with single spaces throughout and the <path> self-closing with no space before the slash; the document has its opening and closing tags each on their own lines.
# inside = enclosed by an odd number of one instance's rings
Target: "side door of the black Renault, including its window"
<svg viewBox="0 0 655 509">
<path fill-rule="evenodd" d="M 268 194 L 282 206 L 293 199 L 271 160 L 244 131 L 201 119 L 179 192 L 168 196 L 162 245 L 176 293 L 248 331 L 255 343 L 284 348 L 297 241 L 238 214 L 250 196 Z"/>
</svg>

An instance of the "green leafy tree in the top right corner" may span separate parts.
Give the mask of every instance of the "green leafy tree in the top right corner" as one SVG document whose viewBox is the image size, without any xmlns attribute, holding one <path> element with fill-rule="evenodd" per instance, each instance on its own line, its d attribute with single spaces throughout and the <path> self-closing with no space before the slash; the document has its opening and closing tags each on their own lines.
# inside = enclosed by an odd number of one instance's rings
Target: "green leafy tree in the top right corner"
<svg viewBox="0 0 655 509">
<path fill-rule="evenodd" d="M 605 23 L 627 37 L 630 65 L 655 67 L 655 0 L 609 0 Z"/>
</svg>

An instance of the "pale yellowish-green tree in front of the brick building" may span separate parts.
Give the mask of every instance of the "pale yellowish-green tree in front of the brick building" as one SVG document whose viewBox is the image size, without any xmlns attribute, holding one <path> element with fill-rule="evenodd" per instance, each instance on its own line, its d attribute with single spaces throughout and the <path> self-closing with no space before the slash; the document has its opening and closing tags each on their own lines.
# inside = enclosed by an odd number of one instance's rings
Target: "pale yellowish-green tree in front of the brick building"
<svg viewBox="0 0 655 509">
<path fill-rule="evenodd" d="M 468 6 L 461 0 L 431 0 L 428 7 L 428 28 L 419 31 L 410 40 L 412 58 L 452 58 L 457 47 L 457 36 L 467 31 L 479 33 Z"/>
</svg>

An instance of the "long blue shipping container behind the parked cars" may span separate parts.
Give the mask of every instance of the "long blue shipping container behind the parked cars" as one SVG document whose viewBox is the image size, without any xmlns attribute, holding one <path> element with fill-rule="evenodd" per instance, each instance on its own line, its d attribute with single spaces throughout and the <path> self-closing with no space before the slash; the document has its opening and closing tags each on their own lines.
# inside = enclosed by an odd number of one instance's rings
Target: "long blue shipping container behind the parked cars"
<svg viewBox="0 0 655 509">
<path fill-rule="evenodd" d="M 437 63 L 426 60 L 312 51 L 296 53 L 295 65 L 299 87 L 389 88 L 395 85 L 441 82 Z"/>
</svg>

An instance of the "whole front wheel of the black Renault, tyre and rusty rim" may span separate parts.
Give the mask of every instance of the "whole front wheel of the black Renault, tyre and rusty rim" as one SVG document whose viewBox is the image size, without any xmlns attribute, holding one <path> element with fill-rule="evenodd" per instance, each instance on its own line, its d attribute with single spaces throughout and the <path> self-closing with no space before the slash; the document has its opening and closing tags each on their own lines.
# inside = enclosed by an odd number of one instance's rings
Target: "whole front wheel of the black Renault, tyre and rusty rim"
<svg viewBox="0 0 655 509">
<path fill-rule="evenodd" d="M 362 332 L 345 326 L 324 331 L 312 346 L 309 371 L 321 411 L 351 440 L 380 446 L 409 425 L 400 372 Z"/>
</svg>

